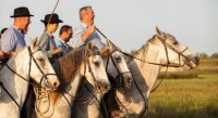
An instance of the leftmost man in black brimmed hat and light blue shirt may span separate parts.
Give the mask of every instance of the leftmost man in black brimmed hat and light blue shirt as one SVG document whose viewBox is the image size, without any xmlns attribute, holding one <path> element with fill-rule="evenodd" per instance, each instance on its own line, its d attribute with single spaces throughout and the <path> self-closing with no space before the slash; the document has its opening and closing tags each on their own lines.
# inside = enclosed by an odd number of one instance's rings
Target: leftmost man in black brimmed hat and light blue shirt
<svg viewBox="0 0 218 118">
<path fill-rule="evenodd" d="M 15 51 L 26 45 L 24 35 L 28 30 L 31 24 L 31 16 L 26 6 L 14 9 L 14 14 L 11 16 L 14 18 L 13 25 L 5 30 L 1 37 L 1 50 L 12 55 Z"/>
</svg>

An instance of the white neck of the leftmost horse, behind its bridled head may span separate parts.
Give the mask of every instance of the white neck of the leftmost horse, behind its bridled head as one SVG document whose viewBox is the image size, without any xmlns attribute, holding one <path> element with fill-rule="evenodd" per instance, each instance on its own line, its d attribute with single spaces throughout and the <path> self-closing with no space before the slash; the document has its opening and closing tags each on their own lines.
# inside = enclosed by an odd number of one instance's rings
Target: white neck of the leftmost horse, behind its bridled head
<svg viewBox="0 0 218 118">
<path fill-rule="evenodd" d="M 26 52 L 20 52 L 19 54 L 10 58 L 7 64 L 11 69 L 13 69 L 16 74 L 21 75 L 28 81 L 28 74 L 26 74 L 26 71 L 28 70 L 28 68 L 26 68 L 26 62 L 28 62 L 28 57 L 24 57 L 24 55 L 26 55 L 24 53 Z M 7 66 L 4 66 L 0 70 L 0 81 L 3 83 L 4 88 L 13 96 L 13 99 L 15 99 L 20 106 L 23 106 L 28 90 L 28 82 L 15 75 L 13 71 L 11 71 Z"/>
</svg>

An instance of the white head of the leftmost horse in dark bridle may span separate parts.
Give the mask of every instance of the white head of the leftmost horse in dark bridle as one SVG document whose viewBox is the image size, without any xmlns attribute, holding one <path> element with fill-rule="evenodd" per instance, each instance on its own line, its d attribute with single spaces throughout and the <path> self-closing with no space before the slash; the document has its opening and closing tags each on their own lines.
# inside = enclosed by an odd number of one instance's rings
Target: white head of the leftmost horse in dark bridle
<svg viewBox="0 0 218 118">
<path fill-rule="evenodd" d="M 59 87 L 58 77 L 48 57 L 43 51 L 38 50 L 36 43 L 37 39 L 35 39 L 28 48 L 28 76 L 33 78 L 40 87 L 47 90 L 56 90 Z"/>
</svg>

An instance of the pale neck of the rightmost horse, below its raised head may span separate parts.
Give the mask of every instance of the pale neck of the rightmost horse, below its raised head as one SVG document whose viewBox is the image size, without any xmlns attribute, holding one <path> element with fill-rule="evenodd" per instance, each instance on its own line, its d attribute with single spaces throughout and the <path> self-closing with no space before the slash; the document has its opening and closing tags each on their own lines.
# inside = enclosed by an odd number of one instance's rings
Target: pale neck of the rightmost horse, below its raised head
<svg viewBox="0 0 218 118">
<path fill-rule="evenodd" d="M 146 53 L 140 52 L 135 56 L 144 60 L 145 62 L 159 64 L 160 61 L 158 58 L 158 52 L 148 49 Z M 157 80 L 159 66 L 143 63 L 138 60 L 133 60 L 133 62 L 130 64 L 130 69 L 131 71 L 134 71 L 132 76 L 136 77 L 136 81 L 138 81 L 138 83 L 144 83 L 144 86 L 141 86 L 141 88 L 144 88 L 144 90 L 147 91 L 146 95 L 148 96 Z"/>
</svg>

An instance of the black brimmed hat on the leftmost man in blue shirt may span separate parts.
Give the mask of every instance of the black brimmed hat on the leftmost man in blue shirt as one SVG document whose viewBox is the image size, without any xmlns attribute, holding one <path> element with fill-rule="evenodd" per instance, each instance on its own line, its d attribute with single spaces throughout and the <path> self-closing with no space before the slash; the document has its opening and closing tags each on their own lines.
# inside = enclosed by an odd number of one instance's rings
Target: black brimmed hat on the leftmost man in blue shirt
<svg viewBox="0 0 218 118">
<path fill-rule="evenodd" d="M 26 6 L 20 6 L 14 9 L 14 14 L 10 17 L 25 17 L 25 16 L 34 16 L 29 13 L 28 9 Z"/>
</svg>

